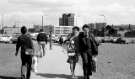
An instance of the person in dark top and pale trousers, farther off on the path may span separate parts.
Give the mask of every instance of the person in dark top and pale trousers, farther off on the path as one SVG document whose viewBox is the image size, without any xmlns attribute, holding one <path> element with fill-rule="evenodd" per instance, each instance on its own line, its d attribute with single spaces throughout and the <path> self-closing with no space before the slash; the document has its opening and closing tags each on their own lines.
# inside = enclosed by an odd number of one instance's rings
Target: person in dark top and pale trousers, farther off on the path
<svg viewBox="0 0 135 79">
<path fill-rule="evenodd" d="M 42 55 L 41 57 L 45 56 L 45 45 L 47 44 L 47 35 L 44 32 L 40 32 L 37 35 L 37 42 L 39 47 L 42 50 Z"/>
</svg>

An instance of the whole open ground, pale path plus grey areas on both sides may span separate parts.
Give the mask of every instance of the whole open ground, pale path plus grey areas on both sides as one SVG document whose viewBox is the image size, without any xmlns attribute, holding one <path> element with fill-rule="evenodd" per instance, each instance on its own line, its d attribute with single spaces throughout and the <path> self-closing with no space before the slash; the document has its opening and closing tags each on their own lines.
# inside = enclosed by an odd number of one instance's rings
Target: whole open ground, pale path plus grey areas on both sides
<svg viewBox="0 0 135 79">
<path fill-rule="evenodd" d="M 135 45 L 103 44 L 99 47 L 97 73 L 91 79 L 135 79 Z M 15 45 L 0 44 L 0 79 L 17 79 L 20 76 L 20 59 L 14 56 Z M 31 79 L 71 79 L 67 55 L 60 46 L 47 49 L 39 59 L 38 73 Z M 76 75 L 82 76 L 81 63 Z"/>
</svg>

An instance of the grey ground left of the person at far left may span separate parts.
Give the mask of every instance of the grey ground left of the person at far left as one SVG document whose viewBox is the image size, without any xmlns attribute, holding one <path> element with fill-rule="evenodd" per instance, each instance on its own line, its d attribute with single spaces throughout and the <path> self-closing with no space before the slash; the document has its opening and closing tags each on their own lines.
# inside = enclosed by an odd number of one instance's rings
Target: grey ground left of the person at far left
<svg viewBox="0 0 135 79">
<path fill-rule="evenodd" d="M 14 56 L 15 45 L 0 43 L 0 79 L 20 76 L 20 58 Z"/>
</svg>

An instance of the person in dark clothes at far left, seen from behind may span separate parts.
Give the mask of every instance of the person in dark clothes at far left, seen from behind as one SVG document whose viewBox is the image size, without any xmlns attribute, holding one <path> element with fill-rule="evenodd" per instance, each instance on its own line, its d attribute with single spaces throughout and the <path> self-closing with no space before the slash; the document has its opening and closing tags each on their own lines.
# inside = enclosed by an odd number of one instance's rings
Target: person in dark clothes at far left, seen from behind
<svg viewBox="0 0 135 79">
<path fill-rule="evenodd" d="M 33 43 L 30 35 L 27 34 L 27 28 L 25 26 L 21 28 L 21 33 L 22 35 L 17 40 L 15 56 L 18 55 L 19 48 L 21 47 L 21 79 L 30 79 L 32 64 L 30 53 L 33 52 Z"/>
</svg>

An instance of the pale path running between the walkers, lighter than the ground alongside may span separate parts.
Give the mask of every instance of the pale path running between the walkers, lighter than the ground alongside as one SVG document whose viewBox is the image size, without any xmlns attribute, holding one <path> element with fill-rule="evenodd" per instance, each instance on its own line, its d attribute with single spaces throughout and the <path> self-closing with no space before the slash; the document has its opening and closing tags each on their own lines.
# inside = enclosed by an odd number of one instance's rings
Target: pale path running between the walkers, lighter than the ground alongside
<svg viewBox="0 0 135 79">
<path fill-rule="evenodd" d="M 49 49 L 49 45 L 46 48 L 46 55 L 38 60 L 38 72 L 32 72 L 31 79 L 71 79 L 66 51 L 59 45 L 53 45 L 52 50 Z M 82 76 L 80 63 L 77 63 L 75 74 Z"/>
</svg>

